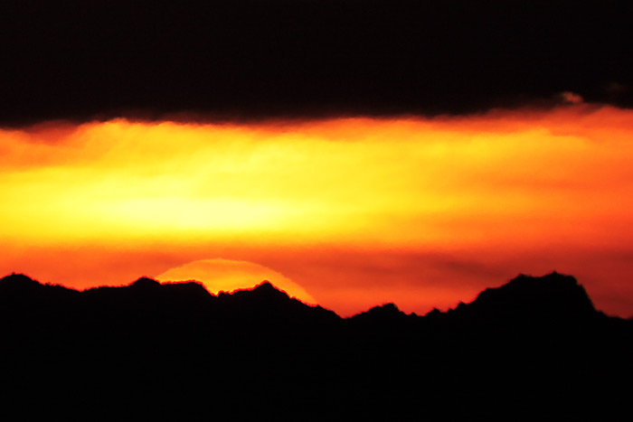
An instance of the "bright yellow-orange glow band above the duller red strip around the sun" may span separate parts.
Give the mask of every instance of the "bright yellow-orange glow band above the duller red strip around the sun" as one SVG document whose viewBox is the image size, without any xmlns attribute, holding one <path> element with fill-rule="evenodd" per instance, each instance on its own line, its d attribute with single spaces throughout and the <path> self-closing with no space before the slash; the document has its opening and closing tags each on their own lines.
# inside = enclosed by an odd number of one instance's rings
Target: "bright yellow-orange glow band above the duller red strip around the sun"
<svg viewBox="0 0 633 422">
<path fill-rule="evenodd" d="M 570 205 L 579 201 L 581 220 L 626 218 L 612 202 L 630 204 L 620 195 L 633 173 L 628 138 L 592 139 L 551 117 L 477 132 L 456 123 L 113 121 L 77 127 L 53 143 L 45 134 L 3 132 L 9 165 L 0 194 L 11 204 L 0 209 L 8 222 L 3 235 L 57 242 L 107 241 L 115 233 L 117 241 L 273 233 L 284 241 L 335 235 L 353 243 L 452 245 L 483 235 L 507 239 L 508 230 L 529 236 L 532 229 L 516 227 L 517 219 L 573 220 L 579 209 Z M 513 227 L 493 230 L 493 223 Z"/>
</svg>

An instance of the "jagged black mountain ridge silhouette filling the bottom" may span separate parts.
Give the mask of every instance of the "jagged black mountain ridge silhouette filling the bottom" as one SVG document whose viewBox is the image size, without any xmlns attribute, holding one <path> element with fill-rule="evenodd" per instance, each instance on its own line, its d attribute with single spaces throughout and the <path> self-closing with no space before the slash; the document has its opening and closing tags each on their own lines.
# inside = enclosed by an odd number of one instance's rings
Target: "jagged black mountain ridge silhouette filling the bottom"
<svg viewBox="0 0 633 422">
<path fill-rule="evenodd" d="M 385 304 L 350 318 L 269 282 L 79 292 L 13 274 L 0 333 L 3 404 L 24 418 L 609 419 L 633 392 L 619 382 L 633 375 L 631 320 L 556 273 L 447 312 Z"/>
</svg>

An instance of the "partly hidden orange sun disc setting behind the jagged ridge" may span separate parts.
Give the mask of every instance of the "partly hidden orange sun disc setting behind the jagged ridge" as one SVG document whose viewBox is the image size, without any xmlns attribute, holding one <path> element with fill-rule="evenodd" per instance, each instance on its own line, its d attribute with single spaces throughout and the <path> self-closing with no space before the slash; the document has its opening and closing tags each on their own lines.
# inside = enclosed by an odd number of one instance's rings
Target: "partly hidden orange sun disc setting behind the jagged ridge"
<svg viewBox="0 0 633 422">
<path fill-rule="evenodd" d="M 284 277 L 269 267 L 249 261 L 222 258 L 201 259 L 170 268 L 155 278 L 161 282 L 199 281 L 213 295 L 250 288 L 259 285 L 262 281 L 269 281 L 290 297 L 295 297 L 308 305 L 316 305 L 315 298 L 288 277 Z"/>
</svg>

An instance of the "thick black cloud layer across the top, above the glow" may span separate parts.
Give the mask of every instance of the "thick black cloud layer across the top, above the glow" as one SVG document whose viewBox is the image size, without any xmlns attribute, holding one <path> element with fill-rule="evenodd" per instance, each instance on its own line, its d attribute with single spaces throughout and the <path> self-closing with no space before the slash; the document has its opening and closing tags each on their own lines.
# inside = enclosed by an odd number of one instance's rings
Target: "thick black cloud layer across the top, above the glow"
<svg viewBox="0 0 633 422">
<path fill-rule="evenodd" d="M 48 3 L 4 11 L 5 125 L 463 114 L 562 91 L 633 104 L 600 88 L 633 84 L 624 4 Z"/>
</svg>

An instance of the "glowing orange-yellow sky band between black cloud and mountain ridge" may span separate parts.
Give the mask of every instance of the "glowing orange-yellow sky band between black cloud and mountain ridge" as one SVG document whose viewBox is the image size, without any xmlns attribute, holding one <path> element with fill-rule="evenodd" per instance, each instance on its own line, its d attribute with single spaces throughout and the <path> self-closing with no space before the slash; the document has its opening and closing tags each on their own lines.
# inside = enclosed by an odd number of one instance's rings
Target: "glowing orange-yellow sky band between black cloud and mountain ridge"
<svg viewBox="0 0 633 422">
<path fill-rule="evenodd" d="M 201 261 L 230 289 L 242 263 L 348 315 L 424 314 L 555 269 L 629 316 L 631 140 L 633 112 L 587 104 L 0 129 L 0 273 L 85 288 Z"/>
</svg>

